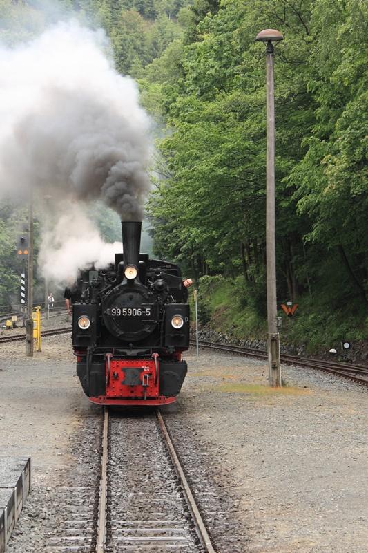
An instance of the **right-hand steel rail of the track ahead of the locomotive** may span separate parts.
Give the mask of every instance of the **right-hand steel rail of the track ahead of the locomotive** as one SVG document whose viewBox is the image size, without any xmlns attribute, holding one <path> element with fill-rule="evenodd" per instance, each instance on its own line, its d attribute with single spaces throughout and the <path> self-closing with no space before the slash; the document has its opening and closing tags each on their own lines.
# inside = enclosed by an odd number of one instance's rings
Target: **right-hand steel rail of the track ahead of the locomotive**
<svg viewBox="0 0 368 553">
<path fill-rule="evenodd" d="M 206 530 L 206 527 L 204 525 L 202 516 L 200 514 L 200 511 L 197 507 L 197 504 L 195 503 L 195 499 L 193 497 L 193 494 L 191 492 L 191 488 L 188 485 L 188 480 L 186 480 L 186 476 L 184 474 L 184 471 L 182 469 L 182 465 L 180 464 L 180 460 L 177 457 L 177 453 L 175 451 L 175 447 L 173 445 L 173 442 L 171 441 L 170 435 L 168 433 L 168 430 L 166 429 L 166 424 L 164 422 L 164 419 L 162 418 L 162 414 L 157 409 L 156 411 L 157 420 L 159 422 L 159 427 L 162 431 L 162 435 L 164 436 L 164 440 L 166 442 L 166 446 L 168 449 L 168 453 L 171 456 L 171 460 L 173 461 L 173 465 L 175 467 L 175 471 L 177 473 L 177 476 L 180 478 L 180 482 L 182 483 L 182 489 L 184 491 L 184 496 L 186 498 L 186 503 L 189 507 L 189 510 L 191 511 L 191 514 L 193 516 L 193 521 L 195 522 L 195 528 L 197 530 L 198 537 L 200 538 L 200 541 L 202 545 L 204 546 L 207 553 L 215 553 L 215 550 L 213 548 L 213 545 L 211 543 L 211 539 L 209 537 L 209 534 Z"/>
</svg>

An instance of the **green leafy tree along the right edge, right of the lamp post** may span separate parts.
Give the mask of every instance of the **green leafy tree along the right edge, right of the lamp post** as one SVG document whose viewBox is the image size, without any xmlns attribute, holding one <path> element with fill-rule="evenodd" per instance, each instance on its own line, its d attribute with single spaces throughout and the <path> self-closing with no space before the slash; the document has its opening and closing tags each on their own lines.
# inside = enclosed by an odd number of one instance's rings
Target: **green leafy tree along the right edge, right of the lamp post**
<svg viewBox="0 0 368 553">
<path fill-rule="evenodd" d="M 367 4 L 316 1 L 309 89 L 316 124 L 293 168 L 298 210 L 311 219 L 307 239 L 338 257 L 350 287 L 367 303 Z M 342 279 L 343 280 L 343 279 Z M 336 290 L 340 297 L 338 290 Z M 347 289 L 340 287 L 340 294 Z"/>
</svg>

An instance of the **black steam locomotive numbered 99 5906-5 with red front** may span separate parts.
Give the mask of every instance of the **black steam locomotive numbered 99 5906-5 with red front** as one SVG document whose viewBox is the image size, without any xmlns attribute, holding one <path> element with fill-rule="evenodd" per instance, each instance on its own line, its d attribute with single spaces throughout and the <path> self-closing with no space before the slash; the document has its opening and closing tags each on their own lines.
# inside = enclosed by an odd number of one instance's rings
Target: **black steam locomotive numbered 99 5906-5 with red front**
<svg viewBox="0 0 368 553">
<path fill-rule="evenodd" d="M 123 254 L 82 275 L 72 307 L 77 375 L 98 404 L 172 403 L 187 372 L 188 292 L 177 265 L 139 253 L 141 227 L 122 223 Z"/>
</svg>

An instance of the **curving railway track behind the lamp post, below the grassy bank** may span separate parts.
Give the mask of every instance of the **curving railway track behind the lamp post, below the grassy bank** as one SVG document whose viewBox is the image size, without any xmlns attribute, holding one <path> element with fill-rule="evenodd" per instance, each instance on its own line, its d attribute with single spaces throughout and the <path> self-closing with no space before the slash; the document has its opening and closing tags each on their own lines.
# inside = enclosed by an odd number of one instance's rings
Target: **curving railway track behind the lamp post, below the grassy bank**
<svg viewBox="0 0 368 553">
<path fill-rule="evenodd" d="M 195 341 L 191 340 L 194 345 Z M 234 353 L 244 355 L 245 357 L 256 357 L 258 359 L 267 359 L 267 352 L 256 350 L 255 348 L 244 348 L 242 346 L 233 346 L 231 344 L 220 344 L 211 341 L 199 341 L 202 348 L 210 348 L 224 353 Z M 305 366 L 315 368 L 318 371 L 325 371 L 333 375 L 338 375 L 358 384 L 368 386 L 368 366 L 359 364 L 338 363 L 332 361 L 324 361 L 322 359 L 310 359 L 307 357 L 298 357 L 297 355 L 281 355 L 281 361 L 289 365 Z"/>
</svg>

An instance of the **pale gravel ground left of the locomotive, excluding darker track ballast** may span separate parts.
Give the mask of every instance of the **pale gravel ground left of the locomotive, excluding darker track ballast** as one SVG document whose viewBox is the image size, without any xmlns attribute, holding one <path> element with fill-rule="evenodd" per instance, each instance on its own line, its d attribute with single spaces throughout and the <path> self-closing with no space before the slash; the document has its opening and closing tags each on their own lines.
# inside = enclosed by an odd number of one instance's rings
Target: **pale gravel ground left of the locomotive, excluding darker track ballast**
<svg viewBox="0 0 368 553">
<path fill-rule="evenodd" d="M 70 435 L 95 409 L 80 391 L 70 344 L 68 335 L 44 339 L 32 358 L 23 343 L 0 345 L 1 455 L 31 456 L 35 483 L 68 466 Z"/>
</svg>

